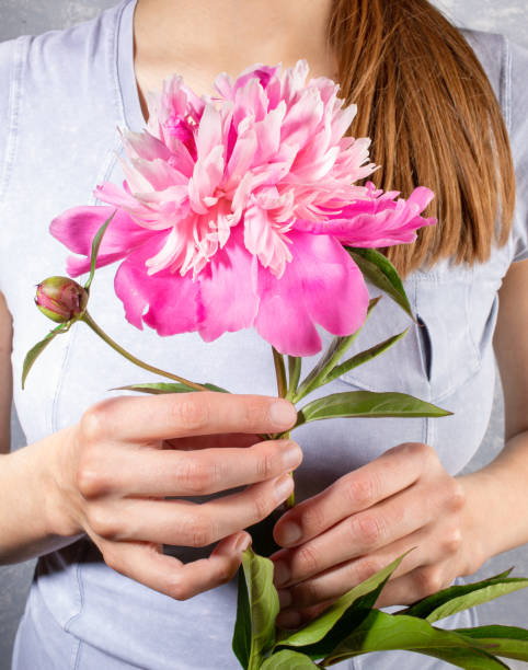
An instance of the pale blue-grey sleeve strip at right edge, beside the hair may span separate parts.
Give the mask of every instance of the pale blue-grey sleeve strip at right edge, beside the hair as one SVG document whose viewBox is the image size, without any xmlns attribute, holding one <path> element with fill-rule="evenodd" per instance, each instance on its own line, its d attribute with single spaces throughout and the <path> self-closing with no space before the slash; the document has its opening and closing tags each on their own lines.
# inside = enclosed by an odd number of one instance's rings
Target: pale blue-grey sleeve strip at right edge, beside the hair
<svg viewBox="0 0 528 670">
<path fill-rule="evenodd" d="M 528 258 L 528 49 L 507 42 L 509 96 L 504 109 L 515 163 L 516 206 L 512 261 Z"/>
</svg>

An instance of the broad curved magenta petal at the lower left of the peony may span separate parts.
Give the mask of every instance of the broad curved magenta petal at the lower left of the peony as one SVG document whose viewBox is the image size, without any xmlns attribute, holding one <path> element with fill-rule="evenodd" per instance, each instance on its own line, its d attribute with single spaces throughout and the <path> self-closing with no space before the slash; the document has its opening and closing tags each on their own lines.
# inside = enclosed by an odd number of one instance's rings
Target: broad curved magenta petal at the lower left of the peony
<svg viewBox="0 0 528 670">
<path fill-rule="evenodd" d="M 114 287 L 133 325 L 142 328 L 145 321 L 158 335 L 175 335 L 196 330 L 199 287 L 190 274 L 182 277 L 165 269 L 147 275 L 145 263 L 159 252 L 164 238 L 159 233 L 133 252 L 120 264 Z"/>
</svg>

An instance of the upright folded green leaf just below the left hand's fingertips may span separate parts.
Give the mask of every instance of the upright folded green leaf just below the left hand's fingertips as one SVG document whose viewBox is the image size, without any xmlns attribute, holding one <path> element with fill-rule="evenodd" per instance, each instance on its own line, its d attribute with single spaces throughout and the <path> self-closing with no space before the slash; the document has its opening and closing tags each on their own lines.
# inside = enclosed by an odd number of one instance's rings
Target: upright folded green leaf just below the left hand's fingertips
<svg viewBox="0 0 528 670">
<path fill-rule="evenodd" d="M 265 651 L 275 643 L 275 619 L 279 604 L 277 591 L 273 586 L 273 563 L 268 558 L 259 556 L 250 547 L 242 554 L 242 571 L 246 600 L 242 598 L 239 601 L 233 650 L 242 666 L 253 670 L 260 668 Z M 248 658 L 248 665 L 244 665 L 241 658 Z"/>
</svg>

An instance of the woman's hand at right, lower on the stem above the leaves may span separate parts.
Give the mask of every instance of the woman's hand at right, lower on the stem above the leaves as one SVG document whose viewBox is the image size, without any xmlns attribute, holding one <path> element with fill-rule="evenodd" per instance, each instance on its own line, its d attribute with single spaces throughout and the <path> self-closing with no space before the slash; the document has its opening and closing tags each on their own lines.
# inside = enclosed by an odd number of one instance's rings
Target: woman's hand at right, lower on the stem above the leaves
<svg viewBox="0 0 528 670">
<path fill-rule="evenodd" d="M 277 625 L 295 628 L 415 547 L 376 607 L 410 604 L 483 563 L 463 478 L 422 443 L 390 449 L 285 513 L 274 530 Z M 478 536 L 478 535 L 477 535 Z"/>
</svg>

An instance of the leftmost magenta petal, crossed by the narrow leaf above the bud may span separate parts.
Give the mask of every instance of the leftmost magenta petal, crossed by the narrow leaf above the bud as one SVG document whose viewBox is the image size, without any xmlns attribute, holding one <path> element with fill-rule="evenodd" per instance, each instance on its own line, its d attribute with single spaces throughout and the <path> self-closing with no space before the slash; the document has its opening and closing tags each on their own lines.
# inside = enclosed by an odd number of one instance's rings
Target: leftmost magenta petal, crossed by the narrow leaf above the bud
<svg viewBox="0 0 528 670">
<path fill-rule="evenodd" d="M 49 227 L 50 233 L 70 251 L 84 258 L 70 256 L 68 273 L 81 275 L 90 268 L 92 242 L 101 226 L 116 212 L 106 229 L 97 256 L 97 267 L 108 265 L 152 236 L 152 231 L 141 228 L 123 210 L 106 206 L 72 207 L 56 217 Z"/>
</svg>

